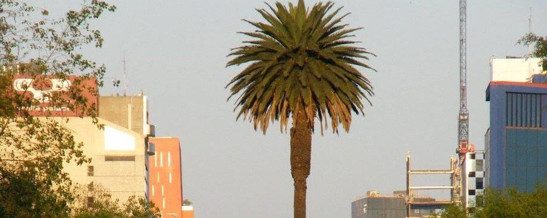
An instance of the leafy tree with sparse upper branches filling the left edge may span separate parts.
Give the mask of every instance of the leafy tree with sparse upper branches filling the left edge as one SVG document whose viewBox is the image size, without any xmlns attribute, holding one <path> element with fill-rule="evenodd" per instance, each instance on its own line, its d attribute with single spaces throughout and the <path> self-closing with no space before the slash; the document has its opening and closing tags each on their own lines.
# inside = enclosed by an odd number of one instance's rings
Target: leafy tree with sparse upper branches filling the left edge
<svg viewBox="0 0 547 218">
<path fill-rule="evenodd" d="M 86 58 L 82 48 L 102 46 L 100 31 L 89 22 L 114 10 L 113 5 L 91 0 L 83 1 L 78 10 L 51 17 L 44 8 L 0 0 L 0 217 L 69 216 L 66 205 L 74 198 L 63 162 L 82 164 L 90 159 L 63 125 L 66 117 L 50 117 L 48 111 L 37 117 L 31 108 L 47 102 L 97 122 L 96 107 L 84 95 L 96 95 L 97 90 L 85 81 L 101 86 L 106 69 Z M 33 89 L 47 86 L 47 78 L 79 77 L 66 93 L 41 91 L 44 95 L 38 98 L 30 84 L 14 90 L 14 78 L 21 75 L 33 79 Z"/>
</svg>

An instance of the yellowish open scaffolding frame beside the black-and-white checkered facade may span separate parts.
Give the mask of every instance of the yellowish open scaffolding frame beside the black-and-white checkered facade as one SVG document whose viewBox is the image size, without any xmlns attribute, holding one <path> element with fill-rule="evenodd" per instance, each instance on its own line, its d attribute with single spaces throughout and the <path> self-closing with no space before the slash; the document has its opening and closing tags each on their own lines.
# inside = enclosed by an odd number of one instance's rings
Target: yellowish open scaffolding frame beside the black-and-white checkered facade
<svg viewBox="0 0 547 218">
<path fill-rule="evenodd" d="M 460 191 L 459 186 L 459 168 L 458 159 L 455 157 L 450 158 L 450 169 L 410 169 L 410 151 L 406 152 L 406 217 L 414 218 L 411 216 L 411 210 L 414 209 L 441 209 L 442 207 L 452 204 L 460 203 Z M 423 174 L 449 174 L 450 185 L 449 186 L 411 186 L 411 175 L 423 175 Z M 447 201 L 438 201 L 435 199 L 433 202 L 418 202 L 415 201 L 413 190 L 450 190 L 450 199 Z"/>
</svg>

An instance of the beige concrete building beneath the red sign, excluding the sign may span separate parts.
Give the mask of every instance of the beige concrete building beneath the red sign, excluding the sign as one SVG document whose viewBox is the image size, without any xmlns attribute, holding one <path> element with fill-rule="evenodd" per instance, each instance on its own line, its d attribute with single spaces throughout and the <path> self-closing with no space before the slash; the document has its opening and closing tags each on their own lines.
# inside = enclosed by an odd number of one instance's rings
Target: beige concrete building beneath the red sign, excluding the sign
<svg viewBox="0 0 547 218">
<path fill-rule="evenodd" d="M 83 142 L 86 157 L 92 161 L 82 166 L 65 164 L 73 181 L 80 185 L 100 185 L 124 202 L 129 196 L 148 198 L 147 160 L 150 131 L 146 96 L 98 97 L 97 128 L 91 117 L 70 118 L 66 126 L 74 131 L 77 142 Z M 123 106 L 122 106 L 123 105 Z"/>
</svg>

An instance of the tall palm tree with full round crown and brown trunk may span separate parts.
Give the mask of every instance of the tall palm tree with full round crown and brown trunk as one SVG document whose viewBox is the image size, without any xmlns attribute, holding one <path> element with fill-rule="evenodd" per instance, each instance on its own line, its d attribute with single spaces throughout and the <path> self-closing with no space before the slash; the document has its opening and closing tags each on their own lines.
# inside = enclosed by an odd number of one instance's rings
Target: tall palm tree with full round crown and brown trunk
<svg viewBox="0 0 547 218">
<path fill-rule="evenodd" d="M 372 69 L 362 58 L 374 55 L 348 40 L 360 28 L 340 23 L 346 15 L 332 13 L 333 3 L 306 8 L 304 1 L 288 7 L 267 4 L 271 12 L 257 9 L 267 22 L 244 20 L 258 28 L 240 32 L 252 40 L 232 49 L 226 66 L 250 63 L 226 87 L 236 101 L 237 119 L 253 122 L 264 134 L 271 122 L 280 121 L 281 132 L 290 128 L 290 169 L 294 180 L 294 217 L 306 217 L 306 179 L 310 175 L 311 134 L 317 118 L 323 134 L 330 117 L 333 133 L 341 124 L 350 130 L 351 111 L 364 113 L 362 99 L 370 104 L 370 81 L 354 66 Z M 373 69 L 374 70 L 374 69 Z"/>
</svg>

